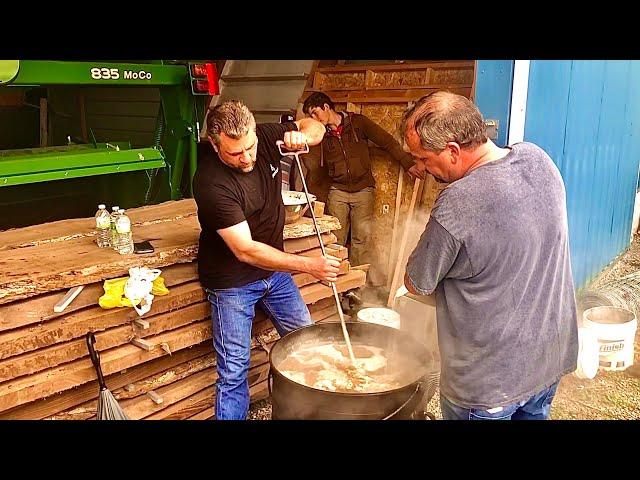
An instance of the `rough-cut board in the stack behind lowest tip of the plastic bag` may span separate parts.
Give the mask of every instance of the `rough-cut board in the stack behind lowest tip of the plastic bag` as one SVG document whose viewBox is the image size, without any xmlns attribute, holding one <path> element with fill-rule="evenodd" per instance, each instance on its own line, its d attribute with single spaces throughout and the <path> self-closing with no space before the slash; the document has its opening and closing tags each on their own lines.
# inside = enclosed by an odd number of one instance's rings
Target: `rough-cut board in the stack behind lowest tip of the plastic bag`
<svg viewBox="0 0 640 480">
<path fill-rule="evenodd" d="M 157 315 L 205 300 L 199 282 L 172 288 L 169 295 L 153 300 L 150 314 Z M 105 310 L 99 306 L 31 327 L 21 327 L 0 334 L 0 359 L 78 338 L 88 331 L 98 332 L 138 318 L 133 308 Z M 149 317 L 145 317 L 149 318 Z"/>
</svg>

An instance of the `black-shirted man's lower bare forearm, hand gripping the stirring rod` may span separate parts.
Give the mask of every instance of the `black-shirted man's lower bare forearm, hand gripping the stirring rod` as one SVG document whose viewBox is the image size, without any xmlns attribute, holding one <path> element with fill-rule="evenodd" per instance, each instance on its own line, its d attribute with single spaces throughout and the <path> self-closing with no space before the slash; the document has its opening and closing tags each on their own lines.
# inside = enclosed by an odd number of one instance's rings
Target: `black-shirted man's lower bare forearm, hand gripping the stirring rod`
<svg viewBox="0 0 640 480">
<path fill-rule="evenodd" d="M 340 260 L 325 257 L 303 257 L 285 253 L 251 237 L 249 224 L 238 223 L 217 231 L 238 260 L 264 270 L 306 272 L 320 280 L 335 282 Z"/>
</svg>

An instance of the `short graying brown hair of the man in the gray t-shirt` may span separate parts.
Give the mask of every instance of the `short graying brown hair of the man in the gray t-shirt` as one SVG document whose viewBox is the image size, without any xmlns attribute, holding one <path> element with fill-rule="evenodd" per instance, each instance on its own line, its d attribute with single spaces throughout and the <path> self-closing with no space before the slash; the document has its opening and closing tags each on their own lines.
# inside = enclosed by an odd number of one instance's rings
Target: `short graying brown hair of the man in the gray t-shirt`
<svg viewBox="0 0 640 480">
<path fill-rule="evenodd" d="M 432 152 L 441 152 L 448 142 L 475 148 L 487 141 L 478 107 L 468 98 L 446 91 L 425 95 L 409 108 L 400 122 L 404 142 L 408 129 L 414 129 L 422 148 Z"/>
</svg>

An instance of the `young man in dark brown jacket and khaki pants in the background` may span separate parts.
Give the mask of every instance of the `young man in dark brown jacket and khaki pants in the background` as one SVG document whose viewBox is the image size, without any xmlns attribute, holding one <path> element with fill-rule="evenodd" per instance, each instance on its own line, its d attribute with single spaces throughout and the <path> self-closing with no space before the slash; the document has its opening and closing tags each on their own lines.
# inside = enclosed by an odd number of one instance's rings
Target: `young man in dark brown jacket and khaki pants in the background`
<svg viewBox="0 0 640 480">
<path fill-rule="evenodd" d="M 368 141 L 386 150 L 412 176 L 422 177 L 424 173 L 419 166 L 414 165 L 411 155 L 402 150 L 392 135 L 364 115 L 336 112 L 334 103 L 324 93 L 311 94 L 305 100 L 302 110 L 327 129 L 319 146 L 319 165 L 310 166 L 308 161 L 305 165 L 308 170 L 317 170 L 318 167 L 324 169 L 325 165 L 327 167 L 331 179 L 327 211 L 342 225 L 341 230 L 334 232 L 338 237 L 337 243 L 346 243 L 351 228 L 349 259 L 353 265 L 372 263 L 369 281 L 373 286 L 380 286 L 383 279 L 375 268 L 376 262 L 372 259 L 369 244 L 375 180 L 371 172 Z M 319 199 L 322 199 L 322 193 L 319 192 Z"/>
</svg>

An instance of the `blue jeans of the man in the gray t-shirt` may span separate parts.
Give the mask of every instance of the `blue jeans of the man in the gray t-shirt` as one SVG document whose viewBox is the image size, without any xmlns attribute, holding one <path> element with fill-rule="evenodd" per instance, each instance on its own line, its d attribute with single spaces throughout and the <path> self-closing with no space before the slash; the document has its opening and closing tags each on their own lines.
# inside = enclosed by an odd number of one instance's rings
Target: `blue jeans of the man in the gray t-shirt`
<svg viewBox="0 0 640 480">
<path fill-rule="evenodd" d="M 551 402 L 556 394 L 559 381 L 533 395 L 528 400 L 507 405 L 506 407 L 464 408 L 440 395 L 440 408 L 443 420 L 548 420 L 551 412 Z M 498 410 L 498 411 L 496 411 Z"/>
</svg>

